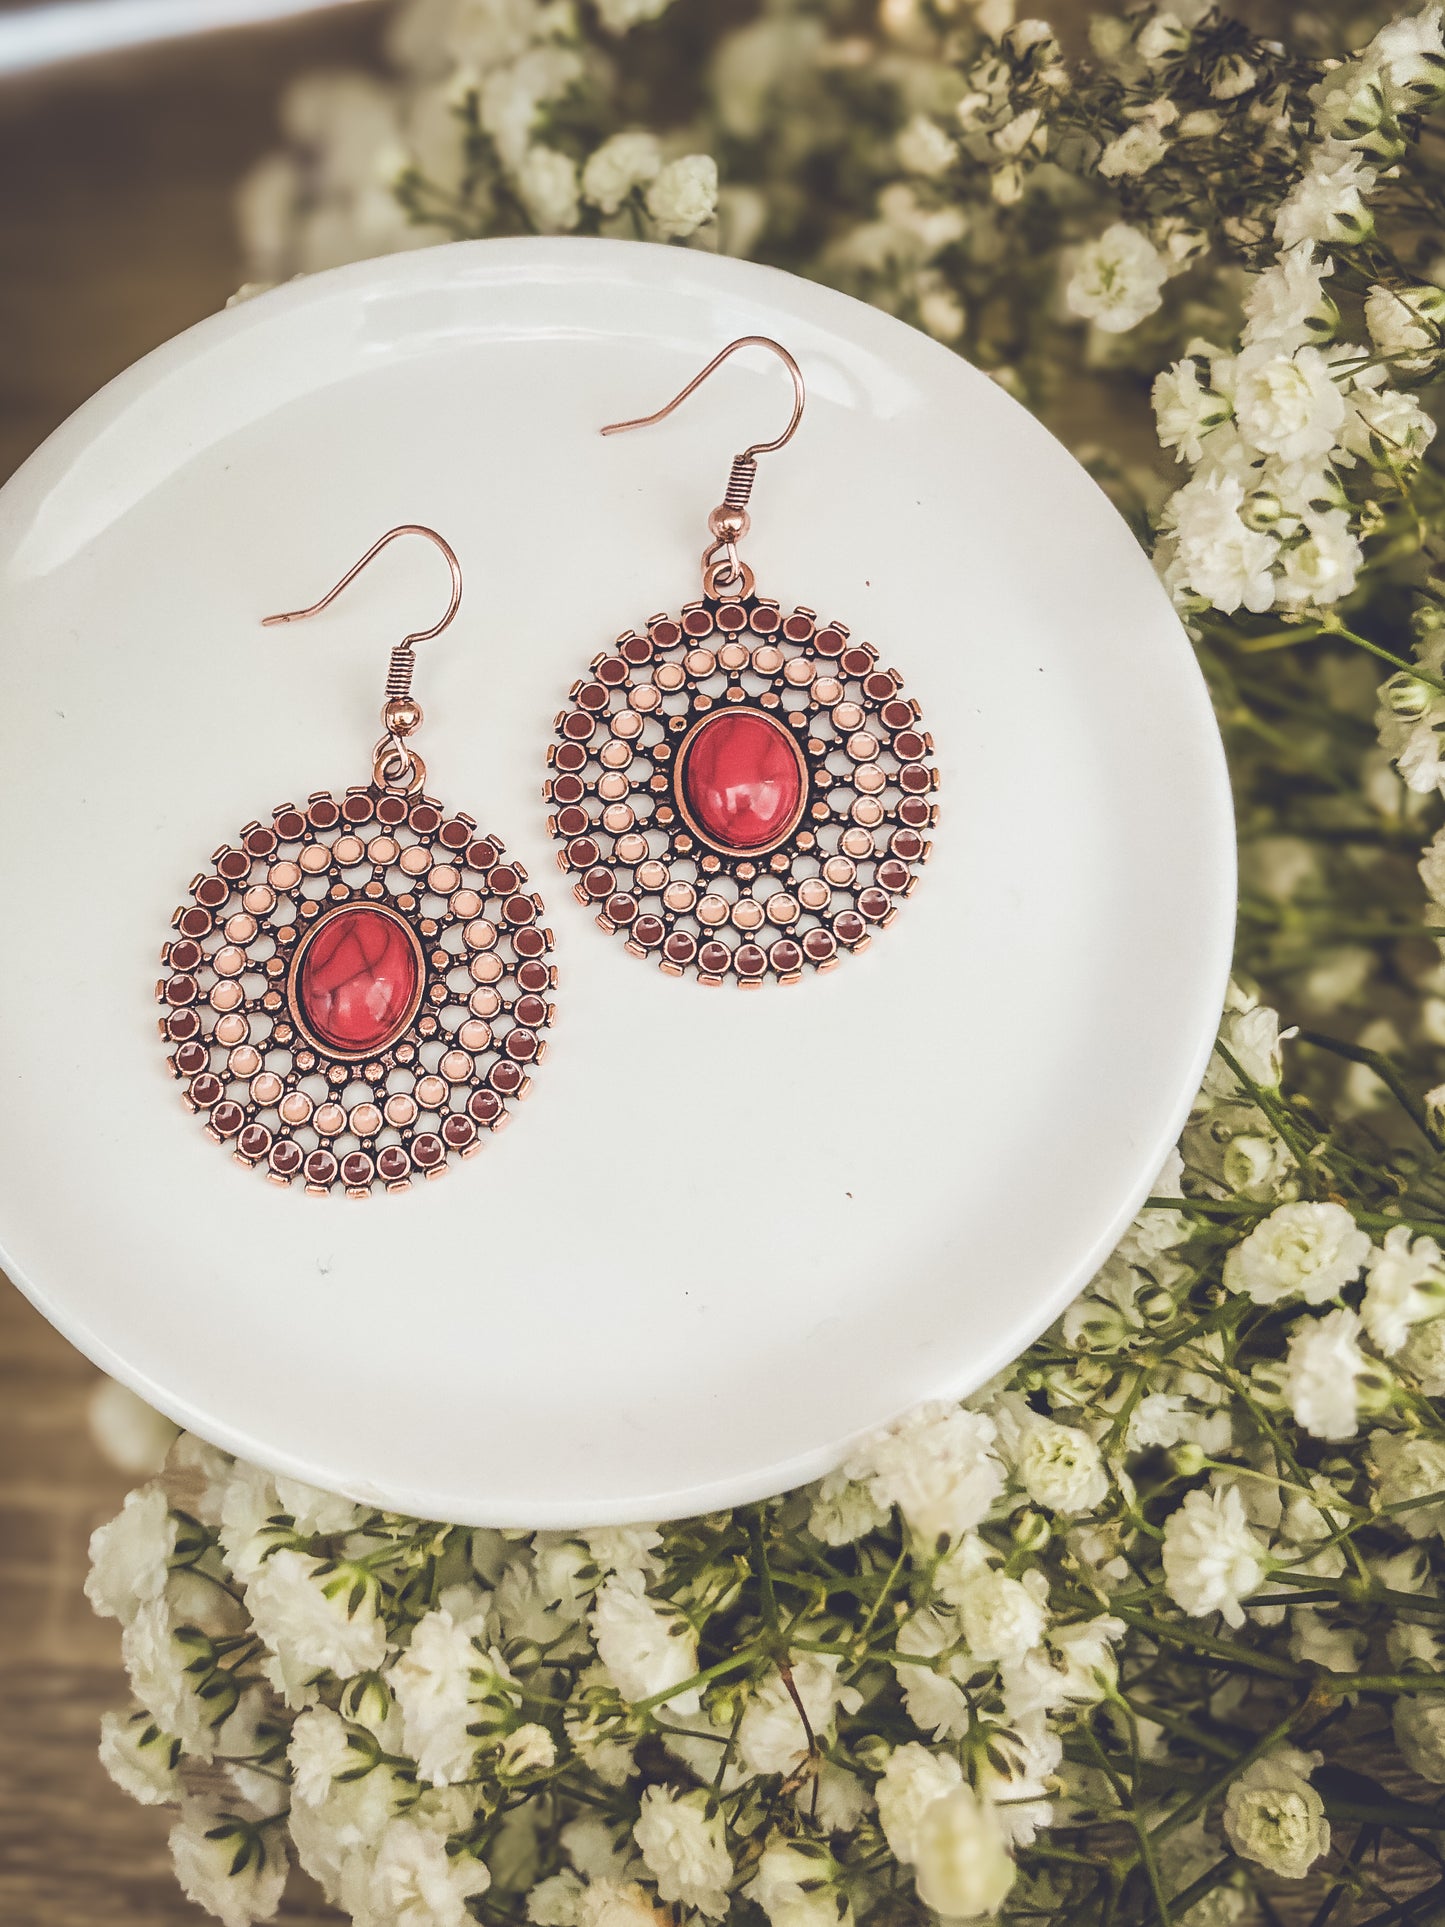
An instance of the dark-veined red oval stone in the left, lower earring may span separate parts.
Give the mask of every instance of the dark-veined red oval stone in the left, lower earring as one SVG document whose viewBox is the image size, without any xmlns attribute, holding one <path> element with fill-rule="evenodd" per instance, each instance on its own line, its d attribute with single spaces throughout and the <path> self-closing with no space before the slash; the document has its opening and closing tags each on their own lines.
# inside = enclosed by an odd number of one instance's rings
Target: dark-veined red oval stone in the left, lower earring
<svg viewBox="0 0 1445 1927">
<path fill-rule="evenodd" d="M 422 981 L 416 938 L 395 917 L 355 904 L 316 927 L 297 958 L 297 1021 L 328 1050 L 370 1056 L 410 1021 Z"/>
</svg>

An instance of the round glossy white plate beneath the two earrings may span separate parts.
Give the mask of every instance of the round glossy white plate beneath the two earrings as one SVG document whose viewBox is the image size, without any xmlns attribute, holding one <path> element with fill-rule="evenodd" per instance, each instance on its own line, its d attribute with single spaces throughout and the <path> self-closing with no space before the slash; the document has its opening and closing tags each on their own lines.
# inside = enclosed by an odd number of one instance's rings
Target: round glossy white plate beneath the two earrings
<svg viewBox="0 0 1445 1927">
<path fill-rule="evenodd" d="M 667 979 L 559 875 L 551 721 L 697 595 L 728 459 L 759 594 L 875 642 L 942 821 L 892 929 L 798 989 Z M 156 1037 L 210 852 L 364 780 L 385 649 L 424 646 L 430 786 L 528 865 L 559 1021 L 532 1098 L 366 1204 L 243 1172 Z M 969 1391 L 1121 1233 L 1200 1077 L 1233 834 L 1189 644 L 1071 457 L 946 349 L 746 262 L 482 241 L 283 287 L 158 349 L 0 493 L 0 1239 L 83 1351 L 204 1438 L 358 1499 L 557 1526 L 740 1503 Z"/>
</svg>

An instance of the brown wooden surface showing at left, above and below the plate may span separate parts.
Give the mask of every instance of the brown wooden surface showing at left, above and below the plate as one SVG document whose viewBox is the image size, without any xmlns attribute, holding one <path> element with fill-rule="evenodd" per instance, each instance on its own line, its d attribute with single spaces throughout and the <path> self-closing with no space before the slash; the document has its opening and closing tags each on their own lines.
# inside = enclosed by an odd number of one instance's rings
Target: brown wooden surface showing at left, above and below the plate
<svg viewBox="0 0 1445 1927">
<path fill-rule="evenodd" d="M 235 181 L 287 77 L 364 60 L 368 10 L 0 83 L 0 476 L 241 279 Z M 81 1594 L 129 1484 L 91 1443 L 96 1374 L 0 1280 L 0 1923 L 197 1927 L 166 1817 L 110 1784 L 119 1634 Z M 339 1921 L 308 1883 L 281 1917 Z"/>
</svg>

